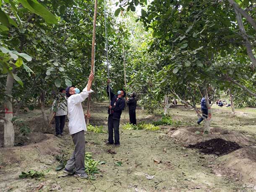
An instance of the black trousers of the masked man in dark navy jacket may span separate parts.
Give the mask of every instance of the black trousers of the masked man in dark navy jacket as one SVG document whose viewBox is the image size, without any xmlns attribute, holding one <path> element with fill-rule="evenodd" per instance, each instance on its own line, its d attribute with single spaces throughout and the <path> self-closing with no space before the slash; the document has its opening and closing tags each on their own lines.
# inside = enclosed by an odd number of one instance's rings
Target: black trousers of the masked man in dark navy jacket
<svg viewBox="0 0 256 192">
<path fill-rule="evenodd" d="M 120 119 L 113 119 L 113 115 L 108 116 L 107 128 L 108 128 L 108 141 L 110 143 L 114 143 L 114 140 L 113 140 L 113 129 L 114 129 L 115 144 L 120 144 L 119 125 L 120 125 Z"/>
</svg>

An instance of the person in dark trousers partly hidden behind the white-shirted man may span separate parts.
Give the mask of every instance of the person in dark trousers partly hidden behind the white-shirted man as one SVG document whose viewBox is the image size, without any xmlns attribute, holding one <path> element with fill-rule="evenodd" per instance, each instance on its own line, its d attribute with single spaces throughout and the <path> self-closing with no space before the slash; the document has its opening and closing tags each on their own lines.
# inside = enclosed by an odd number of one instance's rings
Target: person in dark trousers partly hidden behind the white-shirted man
<svg viewBox="0 0 256 192">
<path fill-rule="evenodd" d="M 65 89 L 60 89 L 60 94 L 52 104 L 52 110 L 55 112 L 55 134 L 58 138 L 63 135 L 65 118 L 68 114 L 67 97 Z"/>
</svg>

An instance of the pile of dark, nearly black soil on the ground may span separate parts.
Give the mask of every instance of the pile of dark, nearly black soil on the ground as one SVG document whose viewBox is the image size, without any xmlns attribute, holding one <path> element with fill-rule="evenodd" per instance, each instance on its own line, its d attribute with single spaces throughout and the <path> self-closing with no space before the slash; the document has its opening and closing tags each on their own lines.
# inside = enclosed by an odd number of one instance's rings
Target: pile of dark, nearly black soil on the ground
<svg viewBox="0 0 256 192">
<path fill-rule="evenodd" d="M 227 141 L 221 138 L 211 139 L 204 142 L 188 145 L 188 148 L 201 149 L 202 153 L 223 155 L 238 150 L 241 147 L 238 143 Z"/>
</svg>

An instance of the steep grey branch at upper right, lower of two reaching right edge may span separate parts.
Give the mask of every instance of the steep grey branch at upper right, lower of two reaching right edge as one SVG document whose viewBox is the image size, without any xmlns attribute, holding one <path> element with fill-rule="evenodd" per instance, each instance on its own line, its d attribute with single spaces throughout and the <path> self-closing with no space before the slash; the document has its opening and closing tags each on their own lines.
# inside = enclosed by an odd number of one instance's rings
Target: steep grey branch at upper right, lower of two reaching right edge
<svg viewBox="0 0 256 192">
<path fill-rule="evenodd" d="M 256 67 L 256 58 L 254 57 L 252 47 L 251 47 L 251 43 L 249 42 L 249 39 L 248 39 L 247 34 L 246 34 L 246 30 L 243 26 L 242 17 L 240 15 L 240 13 L 238 12 L 238 10 L 236 10 L 235 8 L 234 8 L 234 10 L 235 10 L 235 16 L 236 16 L 236 19 L 238 21 L 238 26 L 239 26 L 241 35 L 242 35 L 243 39 L 245 40 L 248 57 L 250 58 L 253 65 Z"/>
</svg>

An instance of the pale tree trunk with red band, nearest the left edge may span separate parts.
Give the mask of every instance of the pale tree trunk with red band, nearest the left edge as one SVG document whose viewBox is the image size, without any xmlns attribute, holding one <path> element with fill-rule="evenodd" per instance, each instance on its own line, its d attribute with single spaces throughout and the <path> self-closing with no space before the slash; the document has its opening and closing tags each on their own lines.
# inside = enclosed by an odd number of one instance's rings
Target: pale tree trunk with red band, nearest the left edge
<svg viewBox="0 0 256 192">
<path fill-rule="evenodd" d="M 5 94 L 7 95 L 5 101 L 5 121 L 4 121 L 4 147 L 13 147 L 14 146 L 14 129 L 13 123 L 13 104 L 12 98 L 9 97 L 12 94 L 13 89 L 13 75 L 8 73 L 6 80 L 6 89 Z"/>
</svg>

